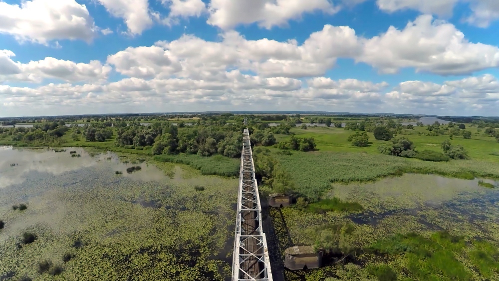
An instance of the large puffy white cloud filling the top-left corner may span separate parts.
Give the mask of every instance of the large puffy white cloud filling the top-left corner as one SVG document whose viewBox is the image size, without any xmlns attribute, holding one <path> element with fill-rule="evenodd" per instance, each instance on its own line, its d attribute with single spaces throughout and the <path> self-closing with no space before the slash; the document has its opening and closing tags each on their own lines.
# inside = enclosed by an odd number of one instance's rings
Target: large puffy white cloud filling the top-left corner
<svg viewBox="0 0 499 281">
<path fill-rule="evenodd" d="M 75 0 L 0 1 L 0 33 L 48 45 L 54 39 L 91 41 L 96 27 L 85 5 Z"/>
</svg>

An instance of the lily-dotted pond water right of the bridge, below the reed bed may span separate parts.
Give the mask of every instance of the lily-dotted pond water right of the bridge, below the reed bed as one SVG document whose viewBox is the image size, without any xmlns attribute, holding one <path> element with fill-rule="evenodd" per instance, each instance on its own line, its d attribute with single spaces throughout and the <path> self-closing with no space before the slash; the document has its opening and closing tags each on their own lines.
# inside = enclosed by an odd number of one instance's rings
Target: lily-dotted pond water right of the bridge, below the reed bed
<svg viewBox="0 0 499 281">
<path fill-rule="evenodd" d="M 457 228 L 497 236 L 499 188 L 485 188 L 478 181 L 405 174 L 374 183 L 334 184 L 328 196 L 361 203 L 364 212 L 348 215 L 356 224 L 379 226 L 405 218 L 415 228 Z M 499 182 L 484 181 L 499 186 Z"/>
</svg>

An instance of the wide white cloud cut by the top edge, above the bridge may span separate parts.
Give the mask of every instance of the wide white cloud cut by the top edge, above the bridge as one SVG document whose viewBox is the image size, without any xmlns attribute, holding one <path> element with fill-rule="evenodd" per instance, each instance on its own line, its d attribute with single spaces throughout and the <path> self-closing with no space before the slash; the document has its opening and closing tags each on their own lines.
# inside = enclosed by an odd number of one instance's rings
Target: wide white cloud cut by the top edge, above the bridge
<svg viewBox="0 0 499 281">
<path fill-rule="evenodd" d="M 328 0 L 211 0 L 208 23 L 222 29 L 256 22 L 270 29 L 281 26 L 303 13 L 321 10 L 333 14 L 338 11 Z"/>
</svg>

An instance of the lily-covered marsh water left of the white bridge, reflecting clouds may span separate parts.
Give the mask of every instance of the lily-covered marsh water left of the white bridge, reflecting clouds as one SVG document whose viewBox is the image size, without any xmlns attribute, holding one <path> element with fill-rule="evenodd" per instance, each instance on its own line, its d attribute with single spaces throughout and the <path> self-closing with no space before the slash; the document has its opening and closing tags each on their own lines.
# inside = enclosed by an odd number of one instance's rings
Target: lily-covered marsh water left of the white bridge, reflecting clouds
<svg viewBox="0 0 499 281">
<path fill-rule="evenodd" d="M 38 273 L 45 259 L 63 267 L 60 280 L 229 278 L 237 180 L 144 160 L 0 147 L 0 280 L 53 280 Z M 25 232 L 36 240 L 23 243 Z"/>
</svg>

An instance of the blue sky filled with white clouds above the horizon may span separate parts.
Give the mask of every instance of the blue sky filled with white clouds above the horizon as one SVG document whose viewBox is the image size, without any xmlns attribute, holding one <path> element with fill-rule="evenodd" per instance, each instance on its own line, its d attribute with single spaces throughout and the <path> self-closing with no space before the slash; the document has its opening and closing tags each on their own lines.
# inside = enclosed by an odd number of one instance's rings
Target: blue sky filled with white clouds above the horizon
<svg viewBox="0 0 499 281">
<path fill-rule="evenodd" d="M 0 0 L 0 117 L 499 116 L 499 0 Z"/>
</svg>

